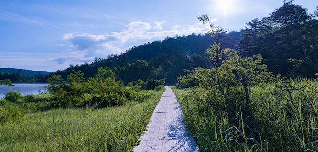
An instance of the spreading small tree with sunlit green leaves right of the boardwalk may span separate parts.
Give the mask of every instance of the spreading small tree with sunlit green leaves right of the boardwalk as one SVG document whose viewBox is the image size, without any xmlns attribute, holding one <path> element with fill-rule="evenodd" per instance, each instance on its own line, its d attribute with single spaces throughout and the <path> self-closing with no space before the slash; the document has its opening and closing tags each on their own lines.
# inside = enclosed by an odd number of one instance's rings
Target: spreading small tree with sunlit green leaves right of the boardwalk
<svg viewBox="0 0 318 152">
<path fill-rule="evenodd" d="M 209 51 L 208 49 L 207 52 Z M 219 67 L 211 69 L 199 67 L 193 71 L 188 71 L 189 74 L 178 78 L 177 87 L 197 85 L 213 90 L 214 93 L 220 93 L 227 101 L 226 106 L 222 108 L 235 105 L 232 98 L 233 94 L 237 94 L 237 97 L 245 96 L 245 104 L 240 104 L 244 108 L 243 112 L 249 111 L 248 86 L 266 82 L 272 78 L 272 74 L 268 73 L 267 66 L 262 64 L 261 55 L 243 58 L 234 49 L 226 48 L 220 51 L 220 56 L 222 56 L 223 61 Z M 242 92 L 242 88 L 244 92 Z"/>
</svg>

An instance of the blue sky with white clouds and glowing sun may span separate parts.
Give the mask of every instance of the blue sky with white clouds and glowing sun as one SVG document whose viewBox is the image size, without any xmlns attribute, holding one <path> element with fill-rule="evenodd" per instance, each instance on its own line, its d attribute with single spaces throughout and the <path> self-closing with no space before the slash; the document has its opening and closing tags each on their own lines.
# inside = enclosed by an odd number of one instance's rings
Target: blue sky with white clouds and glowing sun
<svg viewBox="0 0 318 152">
<path fill-rule="evenodd" d="M 316 0 L 295 0 L 313 13 Z M 165 37 L 206 33 L 197 17 L 239 31 L 281 0 L 0 1 L 0 68 L 56 71 Z"/>
</svg>

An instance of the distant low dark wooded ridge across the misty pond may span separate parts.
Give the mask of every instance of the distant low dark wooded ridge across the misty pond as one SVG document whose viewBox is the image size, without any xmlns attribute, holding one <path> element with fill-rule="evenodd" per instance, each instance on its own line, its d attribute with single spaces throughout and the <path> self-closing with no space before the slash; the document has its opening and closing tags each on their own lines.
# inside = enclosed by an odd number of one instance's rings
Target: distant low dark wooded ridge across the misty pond
<svg viewBox="0 0 318 152">
<path fill-rule="evenodd" d="M 11 82 L 38 82 L 45 83 L 48 75 L 43 75 L 38 72 L 37 75 L 21 75 L 19 72 L 16 73 L 2 73 L 0 72 L 0 80 L 9 79 Z"/>
</svg>

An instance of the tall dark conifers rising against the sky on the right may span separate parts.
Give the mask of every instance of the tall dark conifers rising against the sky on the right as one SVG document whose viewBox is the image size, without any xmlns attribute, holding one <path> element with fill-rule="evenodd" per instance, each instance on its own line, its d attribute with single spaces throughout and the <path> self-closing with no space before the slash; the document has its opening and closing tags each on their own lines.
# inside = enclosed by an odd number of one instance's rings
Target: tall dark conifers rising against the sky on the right
<svg viewBox="0 0 318 152">
<path fill-rule="evenodd" d="M 275 75 L 313 78 L 318 72 L 317 17 L 318 8 L 308 14 L 293 1 L 285 2 L 268 17 L 247 23 L 238 51 L 243 56 L 261 54 Z"/>
</svg>

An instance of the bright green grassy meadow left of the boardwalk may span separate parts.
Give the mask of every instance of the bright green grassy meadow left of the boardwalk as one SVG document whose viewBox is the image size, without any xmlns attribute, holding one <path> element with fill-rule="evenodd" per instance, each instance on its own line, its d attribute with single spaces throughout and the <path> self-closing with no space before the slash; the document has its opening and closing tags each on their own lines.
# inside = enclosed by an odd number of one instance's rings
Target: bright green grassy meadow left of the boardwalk
<svg viewBox="0 0 318 152">
<path fill-rule="evenodd" d="M 144 92 L 154 95 L 118 107 L 28 108 L 21 118 L 0 124 L 0 151 L 131 151 L 162 95 Z"/>
</svg>

